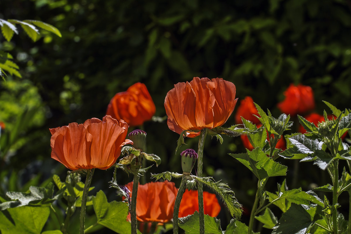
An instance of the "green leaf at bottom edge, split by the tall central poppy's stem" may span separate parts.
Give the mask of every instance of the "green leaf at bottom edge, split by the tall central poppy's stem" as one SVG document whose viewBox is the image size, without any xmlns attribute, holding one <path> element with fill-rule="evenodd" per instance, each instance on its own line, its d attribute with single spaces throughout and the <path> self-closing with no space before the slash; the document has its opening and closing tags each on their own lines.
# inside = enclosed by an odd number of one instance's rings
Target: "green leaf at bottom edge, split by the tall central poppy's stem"
<svg viewBox="0 0 351 234">
<path fill-rule="evenodd" d="M 199 234 L 199 212 L 179 219 L 179 227 L 185 230 L 185 234 Z M 223 234 L 220 227 L 220 220 L 205 214 L 205 233 Z"/>
</svg>

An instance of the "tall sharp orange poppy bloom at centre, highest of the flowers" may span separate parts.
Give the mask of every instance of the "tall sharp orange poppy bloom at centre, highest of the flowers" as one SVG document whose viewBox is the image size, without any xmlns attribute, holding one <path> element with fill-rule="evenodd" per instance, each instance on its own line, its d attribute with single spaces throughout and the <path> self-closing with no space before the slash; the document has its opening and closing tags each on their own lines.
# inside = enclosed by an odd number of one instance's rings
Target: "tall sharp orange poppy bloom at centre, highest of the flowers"
<svg viewBox="0 0 351 234">
<path fill-rule="evenodd" d="M 168 127 L 180 134 L 184 130 L 201 130 L 223 125 L 232 114 L 238 99 L 235 85 L 223 79 L 194 77 L 190 82 L 174 85 L 165 99 Z M 188 137 L 200 133 L 188 131 Z"/>
</svg>

